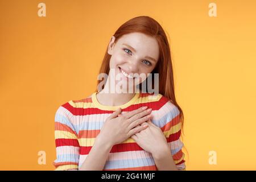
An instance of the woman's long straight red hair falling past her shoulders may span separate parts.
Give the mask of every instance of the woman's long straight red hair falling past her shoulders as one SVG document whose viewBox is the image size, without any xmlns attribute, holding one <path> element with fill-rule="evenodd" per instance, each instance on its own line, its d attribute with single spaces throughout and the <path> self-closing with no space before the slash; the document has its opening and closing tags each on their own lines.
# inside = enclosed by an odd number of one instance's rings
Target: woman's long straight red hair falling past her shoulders
<svg viewBox="0 0 256 182">
<path fill-rule="evenodd" d="M 143 34 L 154 37 L 159 45 L 159 60 L 156 64 L 152 73 L 159 74 L 159 93 L 167 97 L 168 100 L 172 102 L 180 111 L 179 117 L 181 122 L 181 131 L 184 135 L 183 125 L 184 125 L 184 115 L 181 107 L 177 104 L 174 92 L 174 73 L 172 70 L 172 60 L 171 60 L 171 51 L 168 43 L 167 36 L 160 24 L 150 16 L 137 16 L 123 23 L 115 34 L 114 43 L 118 41 L 125 34 L 132 32 L 141 32 Z M 109 74 L 110 68 L 110 57 L 108 54 L 108 47 L 105 52 L 104 59 L 101 64 L 100 73 Z M 146 80 L 147 81 L 147 80 Z M 99 85 L 101 80 L 97 80 L 97 85 Z M 154 85 L 154 77 L 152 77 L 152 85 Z M 142 84 L 142 83 L 141 83 Z M 140 86 L 141 86 L 140 84 Z M 104 86 L 102 86 L 104 88 Z M 96 92 L 98 90 L 96 89 Z M 182 136 L 181 136 L 182 138 Z"/>
</svg>

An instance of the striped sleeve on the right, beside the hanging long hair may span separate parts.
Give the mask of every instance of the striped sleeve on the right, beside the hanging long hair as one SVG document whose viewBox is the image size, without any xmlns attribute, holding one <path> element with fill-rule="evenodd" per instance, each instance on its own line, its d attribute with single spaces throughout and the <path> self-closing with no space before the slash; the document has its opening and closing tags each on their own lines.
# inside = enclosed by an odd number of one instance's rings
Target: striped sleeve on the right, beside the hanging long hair
<svg viewBox="0 0 256 182">
<path fill-rule="evenodd" d="M 185 171 L 185 154 L 182 151 L 184 146 L 181 142 L 181 119 L 180 111 L 171 102 L 168 102 L 168 111 L 166 114 L 166 125 L 162 127 L 164 135 L 166 136 L 167 143 L 170 147 L 172 158 L 176 164 L 176 167 L 180 171 Z"/>
</svg>

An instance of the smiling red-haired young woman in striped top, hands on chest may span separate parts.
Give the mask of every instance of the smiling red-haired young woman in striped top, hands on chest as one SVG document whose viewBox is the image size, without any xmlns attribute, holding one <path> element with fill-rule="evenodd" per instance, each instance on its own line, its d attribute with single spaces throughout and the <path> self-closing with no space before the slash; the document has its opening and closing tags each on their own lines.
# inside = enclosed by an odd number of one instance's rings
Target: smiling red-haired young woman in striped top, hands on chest
<svg viewBox="0 0 256 182">
<path fill-rule="evenodd" d="M 185 170 L 183 112 L 160 24 L 149 16 L 122 24 L 110 38 L 100 73 L 108 75 L 104 85 L 98 80 L 101 86 L 89 97 L 56 111 L 55 170 Z M 158 73 L 158 79 L 151 77 L 158 94 L 142 92 L 150 80 L 138 75 L 148 73 Z M 123 90 L 137 89 L 113 93 L 117 75 Z"/>
</svg>

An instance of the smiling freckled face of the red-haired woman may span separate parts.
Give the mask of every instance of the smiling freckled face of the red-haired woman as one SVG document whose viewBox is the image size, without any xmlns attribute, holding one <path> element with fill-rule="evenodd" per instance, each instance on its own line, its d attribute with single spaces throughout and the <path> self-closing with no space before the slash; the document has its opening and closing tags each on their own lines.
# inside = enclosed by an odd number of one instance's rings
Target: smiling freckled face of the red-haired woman
<svg viewBox="0 0 256 182">
<path fill-rule="evenodd" d="M 114 43 L 115 37 L 110 39 L 108 53 L 110 58 L 110 70 L 114 70 L 115 76 L 122 75 L 122 79 L 131 81 L 134 74 L 151 73 L 159 59 L 158 42 L 152 36 L 133 32 L 125 34 Z M 140 78 L 139 83 L 146 78 Z"/>
</svg>

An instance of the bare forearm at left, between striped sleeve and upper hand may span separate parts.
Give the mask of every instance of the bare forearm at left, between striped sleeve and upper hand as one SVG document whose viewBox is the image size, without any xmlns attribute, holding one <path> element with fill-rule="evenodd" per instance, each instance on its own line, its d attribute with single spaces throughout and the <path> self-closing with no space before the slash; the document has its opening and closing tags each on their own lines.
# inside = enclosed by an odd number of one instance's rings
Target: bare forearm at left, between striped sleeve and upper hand
<svg viewBox="0 0 256 182">
<path fill-rule="evenodd" d="M 92 149 L 90 150 L 88 156 L 82 163 L 79 170 L 81 171 L 101 171 L 106 163 L 108 154 L 112 148 L 112 144 L 104 142 L 101 139 L 100 134 L 96 138 Z"/>
</svg>

